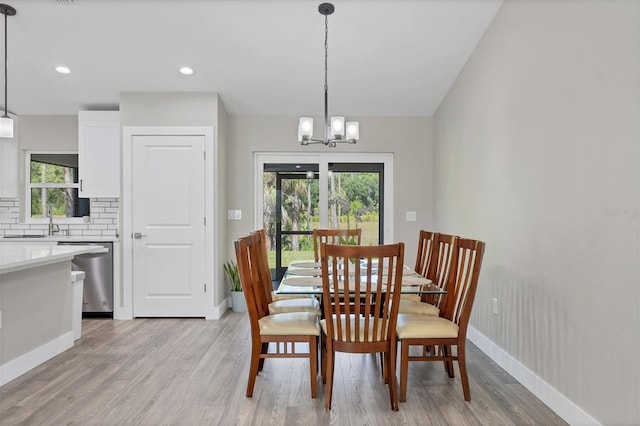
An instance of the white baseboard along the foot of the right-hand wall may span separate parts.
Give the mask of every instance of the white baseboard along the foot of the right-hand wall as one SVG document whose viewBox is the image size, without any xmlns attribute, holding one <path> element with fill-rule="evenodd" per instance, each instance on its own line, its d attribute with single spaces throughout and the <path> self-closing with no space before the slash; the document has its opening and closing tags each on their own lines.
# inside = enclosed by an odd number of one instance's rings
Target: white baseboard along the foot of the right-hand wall
<svg viewBox="0 0 640 426">
<path fill-rule="evenodd" d="M 475 328 L 469 326 L 467 338 L 570 425 L 600 425 L 589 413 Z"/>
</svg>

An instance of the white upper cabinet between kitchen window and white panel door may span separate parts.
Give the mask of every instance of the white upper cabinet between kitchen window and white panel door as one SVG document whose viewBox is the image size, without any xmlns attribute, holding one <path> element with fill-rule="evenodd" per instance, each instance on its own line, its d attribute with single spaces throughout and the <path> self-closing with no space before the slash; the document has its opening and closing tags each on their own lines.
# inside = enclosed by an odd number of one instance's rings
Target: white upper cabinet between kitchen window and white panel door
<svg viewBox="0 0 640 426">
<path fill-rule="evenodd" d="M 80 197 L 120 197 L 120 113 L 78 112 Z"/>
</svg>

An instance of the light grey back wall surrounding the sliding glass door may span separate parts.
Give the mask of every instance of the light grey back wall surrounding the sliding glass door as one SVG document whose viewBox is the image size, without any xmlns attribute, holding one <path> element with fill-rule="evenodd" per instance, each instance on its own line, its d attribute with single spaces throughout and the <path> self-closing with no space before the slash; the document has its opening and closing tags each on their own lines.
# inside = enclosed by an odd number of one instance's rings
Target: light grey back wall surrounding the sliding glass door
<svg viewBox="0 0 640 426">
<path fill-rule="evenodd" d="M 394 239 L 404 241 L 409 264 L 415 261 L 420 229 L 433 224 L 433 130 L 429 117 L 349 117 L 360 121 L 356 145 L 300 146 L 298 117 L 230 116 L 227 151 L 227 204 L 242 210 L 241 221 L 229 221 L 227 254 L 233 241 L 254 230 L 254 152 L 391 152 L 394 154 Z M 315 123 L 321 123 L 315 117 Z M 321 135 L 318 126 L 314 135 Z M 417 212 L 416 222 L 405 221 L 405 211 Z"/>
</svg>

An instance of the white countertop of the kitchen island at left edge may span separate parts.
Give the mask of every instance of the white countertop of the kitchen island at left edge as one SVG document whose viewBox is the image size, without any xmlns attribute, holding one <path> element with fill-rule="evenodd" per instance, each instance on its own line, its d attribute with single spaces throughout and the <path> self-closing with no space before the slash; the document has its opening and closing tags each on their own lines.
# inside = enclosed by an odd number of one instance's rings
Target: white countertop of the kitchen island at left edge
<svg viewBox="0 0 640 426">
<path fill-rule="evenodd" d="M 0 274 L 71 260 L 79 254 L 99 253 L 104 250 L 100 246 L 81 245 L 0 245 Z"/>
</svg>

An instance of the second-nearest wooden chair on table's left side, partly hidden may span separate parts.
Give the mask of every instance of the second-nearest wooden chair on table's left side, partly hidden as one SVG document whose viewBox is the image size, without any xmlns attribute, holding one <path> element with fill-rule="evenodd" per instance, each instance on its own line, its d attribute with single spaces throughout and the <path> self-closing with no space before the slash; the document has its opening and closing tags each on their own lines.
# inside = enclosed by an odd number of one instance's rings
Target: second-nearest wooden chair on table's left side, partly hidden
<svg viewBox="0 0 640 426">
<path fill-rule="evenodd" d="M 271 269 L 267 255 L 267 234 L 264 229 L 251 233 L 253 238 L 252 250 L 257 259 L 257 268 L 260 283 L 263 287 L 264 296 L 267 299 L 269 312 L 272 314 L 282 314 L 286 312 L 312 312 L 321 315 L 320 302 L 314 297 L 290 296 L 277 297 L 273 291 L 273 281 L 271 280 Z"/>
</svg>

